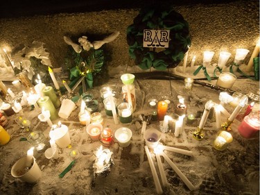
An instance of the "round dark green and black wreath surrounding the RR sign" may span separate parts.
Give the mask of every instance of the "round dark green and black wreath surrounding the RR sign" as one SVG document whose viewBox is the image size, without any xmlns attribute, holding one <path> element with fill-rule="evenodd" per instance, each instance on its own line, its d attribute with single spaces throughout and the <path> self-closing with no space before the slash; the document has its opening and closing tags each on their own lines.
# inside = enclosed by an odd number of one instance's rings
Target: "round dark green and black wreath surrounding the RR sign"
<svg viewBox="0 0 260 195">
<path fill-rule="evenodd" d="M 170 30 L 168 48 L 156 52 L 143 47 L 144 29 Z M 135 64 L 141 69 L 174 68 L 184 58 L 184 54 L 189 49 L 188 46 L 191 45 L 189 24 L 173 9 L 141 9 L 134 19 L 134 24 L 127 28 L 127 42 L 130 58 L 135 59 Z"/>
</svg>

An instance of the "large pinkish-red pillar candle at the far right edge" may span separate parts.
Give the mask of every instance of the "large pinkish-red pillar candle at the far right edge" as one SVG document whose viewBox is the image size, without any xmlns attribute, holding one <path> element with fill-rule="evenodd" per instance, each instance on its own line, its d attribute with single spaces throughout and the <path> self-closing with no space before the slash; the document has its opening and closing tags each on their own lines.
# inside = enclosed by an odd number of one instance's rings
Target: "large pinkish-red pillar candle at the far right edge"
<svg viewBox="0 0 260 195">
<path fill-rule="evenodd" d="M 240 124 L 238 130 L 242 137 L 251 138 L 259 132 L 260 117 L 259 113 L 252 113 L 245 116 L 242 123 Z"/>
</svg>

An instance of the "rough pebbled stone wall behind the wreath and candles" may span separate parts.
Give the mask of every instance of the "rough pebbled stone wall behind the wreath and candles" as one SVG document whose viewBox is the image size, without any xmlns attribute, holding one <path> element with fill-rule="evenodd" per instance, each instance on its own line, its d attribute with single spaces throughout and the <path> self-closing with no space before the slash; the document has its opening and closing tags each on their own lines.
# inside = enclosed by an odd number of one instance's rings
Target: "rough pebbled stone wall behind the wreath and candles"
<svg viewBox="0 0 260 195">
<path fill-rule="evenodd" d="M 196 55 L 196 65 L 202 62 L 205 50 L 215 51 L 212 62 L 218 62 L 220 51 L 229 51 L 234 60 L 237 48 L 249 49 L 248 62 L 259 38 L 259 1 L 232 1 L 218 4 L 192 4 L 175 6 L 175 10 L 189 22 L 191 48 L 188 66 Z M 1 18 L 0 46 L 12 49 L 16 44 L 44 42 L 50 53 L 53 67 L 62 67 L 69 46 L 63 36 L 78 38 L 92 36 L 98 40 L 114 31 L 117 39 L 106 45 L 111 56 L 109 66 L 134 65 L 128 56 L 126 28 L 139 13 L 138 9 L 103 10 L 100 12 L 60 13 L 33 17 Z M 94 41 L 92 40 L 92 41 Z M 182 65 L 182 62 L 180 62 Z"/>
</svg>

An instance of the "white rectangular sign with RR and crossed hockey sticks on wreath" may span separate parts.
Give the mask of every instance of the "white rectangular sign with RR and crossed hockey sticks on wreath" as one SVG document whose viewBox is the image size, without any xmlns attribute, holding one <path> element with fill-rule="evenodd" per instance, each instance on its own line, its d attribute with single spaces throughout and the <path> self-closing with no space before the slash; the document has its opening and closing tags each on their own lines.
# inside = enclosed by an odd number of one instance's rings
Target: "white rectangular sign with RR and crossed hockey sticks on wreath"
<svg viewBox="0 0 260 195">
<path fill-rule="evenodd" d="M 144 47 L 168 48 L 170 30 L 148 30 L 144 29 Z"/>
</svg>

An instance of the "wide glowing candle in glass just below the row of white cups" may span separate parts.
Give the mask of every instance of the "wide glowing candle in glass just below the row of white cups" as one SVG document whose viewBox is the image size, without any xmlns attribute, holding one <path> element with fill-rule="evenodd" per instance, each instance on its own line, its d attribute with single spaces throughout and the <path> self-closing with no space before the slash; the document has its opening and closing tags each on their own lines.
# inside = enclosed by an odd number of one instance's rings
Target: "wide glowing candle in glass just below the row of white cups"
<svg viewBox="0 0 260 195">
<path fill-rule="evenodd" d="M 236 81 L 236 75 L 230 72 L 223 72 L 218 76 L 216 85 L 225 89 L 231 89 Z"/>
</svg>

